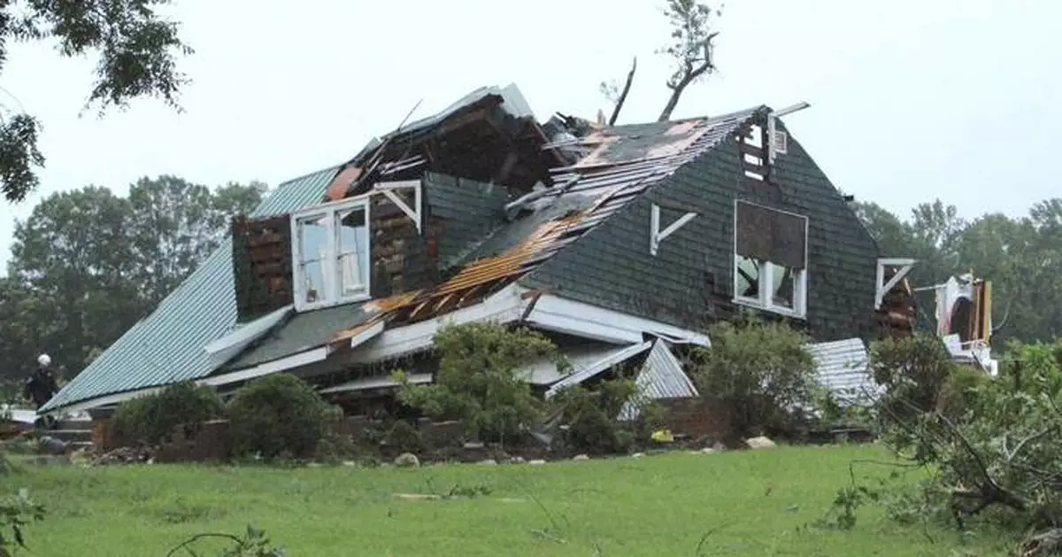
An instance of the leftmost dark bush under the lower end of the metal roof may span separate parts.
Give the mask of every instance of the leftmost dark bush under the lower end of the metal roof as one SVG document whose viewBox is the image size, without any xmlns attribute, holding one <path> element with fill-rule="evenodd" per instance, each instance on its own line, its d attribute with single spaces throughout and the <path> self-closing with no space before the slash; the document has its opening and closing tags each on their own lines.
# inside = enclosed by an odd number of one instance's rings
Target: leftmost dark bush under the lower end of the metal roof
<svg viewBox="0 0 1062 557">
<path fill-rule="evenodd" d="M 122 441 L 155 444 L 168 441 L 178 425 L 198 424 L 223 413 L 224 405 L 213 387 L 185 382 L 123 402 L 115 412 L 114 427 Z"/>
</svg>

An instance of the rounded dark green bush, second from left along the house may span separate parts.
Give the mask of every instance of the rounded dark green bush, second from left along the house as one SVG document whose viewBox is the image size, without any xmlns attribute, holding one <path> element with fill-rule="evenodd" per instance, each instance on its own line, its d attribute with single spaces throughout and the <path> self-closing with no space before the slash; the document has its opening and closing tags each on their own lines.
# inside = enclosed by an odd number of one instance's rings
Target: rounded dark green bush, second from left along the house
<svg viewBox="0 0 1062 557">
<path fill-rule="evenodd" d="M 312 456 L 331 413 L 313 387 L 298 377 L 260 377 L 237 390 L 228 404 L 233 451 L 267 459 Z"/>
</svg>

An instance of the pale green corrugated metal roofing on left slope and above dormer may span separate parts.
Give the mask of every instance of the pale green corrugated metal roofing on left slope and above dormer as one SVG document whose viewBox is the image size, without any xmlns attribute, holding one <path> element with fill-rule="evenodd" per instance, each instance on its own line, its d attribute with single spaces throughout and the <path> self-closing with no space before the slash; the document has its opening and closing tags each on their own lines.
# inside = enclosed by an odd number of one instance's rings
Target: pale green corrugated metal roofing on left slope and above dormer
<svg viewBox="0 0 1062 557">
<path fill-rule="evenodd" d="M 332 167 L 280 184 L 251 216 L 280 215 L 320 202 L 336 171 Z M 41 409 L 203 377 L 213 369 L 204 347 L 235 324 L 233 244 L 226 238 L 155 311 L 131 327 Z"/>
</svg>

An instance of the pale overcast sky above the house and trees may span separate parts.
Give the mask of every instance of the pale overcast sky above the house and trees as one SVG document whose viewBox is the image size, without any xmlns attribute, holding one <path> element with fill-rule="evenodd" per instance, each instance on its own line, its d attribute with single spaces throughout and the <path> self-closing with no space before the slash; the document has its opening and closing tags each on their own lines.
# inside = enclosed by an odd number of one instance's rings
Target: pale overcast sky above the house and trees
<svg viewBox="0 0 1062 557">
<path fill-rule="evenodd" d="M 593 118 L 610 108 L 598 84 L 638 55 L 620 123 L 654 120 L 666 21 L 661 0 L 626 3 L 177 0 L 170 12 L 196 50 L 183 61 L 184 114 L 143 100 L 79 118 L 95 60 L 15 46 L 0 84 L 41 119 L 48 165 L 25 203 L 0 202 L 0 272 L 11 217 L 53 191 L 124 195 L 161 173 L 275 186 L 349 158 L 422 98 L 414 118 L 515 82 L 539 120 Z M 1044 171 L 1062 129 L 1058 0 L 731 0 L 720 28 L 719 73 L 673 117 L 806 100 L 786 123 L 834 184 L 904 216 L 937 197 L 976 216 L 1062 196 Z"/>
</svg>

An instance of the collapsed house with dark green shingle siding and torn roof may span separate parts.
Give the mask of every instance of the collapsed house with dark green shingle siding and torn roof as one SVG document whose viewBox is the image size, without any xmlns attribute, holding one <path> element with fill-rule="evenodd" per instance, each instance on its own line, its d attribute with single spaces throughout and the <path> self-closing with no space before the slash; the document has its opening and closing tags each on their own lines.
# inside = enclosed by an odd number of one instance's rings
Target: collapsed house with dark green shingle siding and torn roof
<svg viewBox="0 0 1062 557">
<path fill-rule="evenodd" d="M 805 330 L 827 384 L 860 384 L 910 261 L 879 259 L 789 134 L 805 106 L 539 124 L 515 86 L 479 89 L 281 184 L 45 410 L 278 372 L 363 399 L 396 368 L 432 381 L 439 327 L 481 320 L 561 345 L 569 375 L 526 370 L 546 395 L 626 364 L 648 396 L 692 396 L 673 352 L 744 308 Z"/>
</svg>

